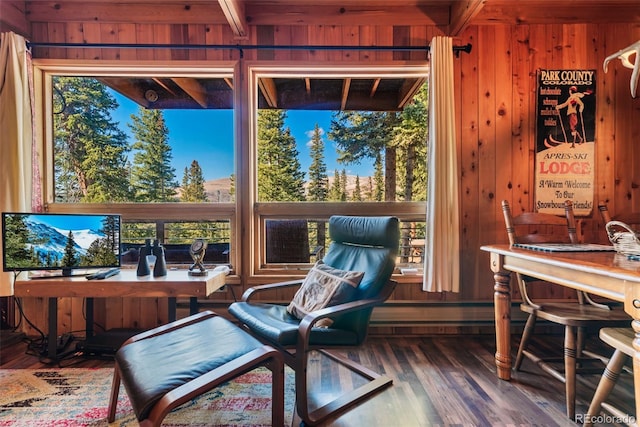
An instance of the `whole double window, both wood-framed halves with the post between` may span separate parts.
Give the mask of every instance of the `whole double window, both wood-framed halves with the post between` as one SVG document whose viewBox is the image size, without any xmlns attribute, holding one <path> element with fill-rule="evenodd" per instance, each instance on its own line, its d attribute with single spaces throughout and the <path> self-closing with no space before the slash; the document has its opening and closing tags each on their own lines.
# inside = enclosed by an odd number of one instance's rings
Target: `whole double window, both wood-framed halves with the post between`
<svg viewBox="0 0 640 427">
<path fill-rule="evenodd" d="M 300 275 L 331 215 L 393 215 L 399 267 L 421 266 L 425 64 L 35 63 L 47 209 L 121 214 L 125 252 L 184 264 L 199 237 L 249 281 Z"/>
</svg>

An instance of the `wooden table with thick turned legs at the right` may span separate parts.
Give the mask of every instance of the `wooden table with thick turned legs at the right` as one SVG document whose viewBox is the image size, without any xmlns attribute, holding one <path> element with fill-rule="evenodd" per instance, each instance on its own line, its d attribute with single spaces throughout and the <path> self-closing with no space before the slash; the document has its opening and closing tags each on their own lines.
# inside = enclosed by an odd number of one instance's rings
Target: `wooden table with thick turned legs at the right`
<svg viewBox="0 0 640 427">
<path fill-rule="evenodd" d="M 489 245 L 494 273 L 496 320 L 496 367 L 498 377 L 511 379 L 511 272 L 525 274 L 558 285 L 581 290 L 624 303 L 633 317 L 633 374 L 636 408 L 640 408 L 640 261 L 629 261 L 615 252 L 539 252 Z M 611 350 L 613 353 L 613 349 Z"/>
</svg>

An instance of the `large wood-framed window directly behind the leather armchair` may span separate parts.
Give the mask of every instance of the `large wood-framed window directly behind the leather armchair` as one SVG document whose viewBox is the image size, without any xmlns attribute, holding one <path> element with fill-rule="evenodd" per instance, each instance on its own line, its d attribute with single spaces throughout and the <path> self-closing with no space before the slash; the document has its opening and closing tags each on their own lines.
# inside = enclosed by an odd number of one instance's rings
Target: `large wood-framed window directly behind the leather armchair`
<svg viewBox="0 0 640 427">
<path fill-rule="evenodd" d="M 426 69 L 312 69 L 252 69 L 256 270 L 314 262 L 336 213 L 398 216 L 399 264 L 421 264 Z"/>
</svg>

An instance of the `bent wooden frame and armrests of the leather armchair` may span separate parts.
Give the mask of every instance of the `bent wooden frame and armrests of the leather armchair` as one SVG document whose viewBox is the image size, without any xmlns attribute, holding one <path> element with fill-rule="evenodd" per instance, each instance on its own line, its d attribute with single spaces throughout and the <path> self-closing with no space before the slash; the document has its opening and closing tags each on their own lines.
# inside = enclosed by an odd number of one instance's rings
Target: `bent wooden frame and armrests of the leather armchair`
<svg viewBox="0 0 640 427">
<path fill-rule="evenodd" d="M 261 292 L 299 286 L 302 284 L 302 282 L 302 280 L 292 280 L 287 282 L 273 283 L 269 285 L 254 286 L 245 291 L 245 293 L 242 295 L 242 301 L 248 302 L 251 298 L 255 297 Z M 264 340 L 259 335 L 253 334 L 259 340 L 280 350 L 284 357 L 285 364 L 287 364 L 294 370 L 296 380 L 296 410 L 300 418 L 302 418 L 305 423 L 309 425 L 318 424 L 331 416 L 337 415 L 357 405 L 358 403 L 367 399 L 369 396 L 382 391 L 384 388 L 390 386 L 393 383 L 393 380 L 391 378 L 380 375 L 377 372 L 374 372 L 371 369 L 368 369 L 353 360 L 335 354 L 330 350 L 331 348 L 345 348 L 345 346 L 314 346 L 309 343 L 309 339 L 313 326 L 320 319 L 335 317 L 340 314 L 345 314 L 357 310 L 373 310 L 374 307 L 381 305 L 391 296 L 396 285 L 397 282 L 395 282 L 394 280 L 389 280 L 387 284 L 381 289 L 380 293 L 374 298 L 339 304 L 307 314 L 300 321 L 300 324 L 298 326 L 298 339 L 296 340 L 295 347 L 278 346 L 274 342 Z M 247 328 L 247 330 L 251 332 L 249 328 Z M 366 378 L 368 382 L 364 385 L 361 385 L 360 387 L 342 394 L 341 396 L 319 408 L 310 410 L 308 399 L 307 364 L 308 355 L 311 351 L 314 350 L 327 356 L 331 360 L 347 367 L 351 371 L 358 373 L 359 375 Z"/>
</svg>

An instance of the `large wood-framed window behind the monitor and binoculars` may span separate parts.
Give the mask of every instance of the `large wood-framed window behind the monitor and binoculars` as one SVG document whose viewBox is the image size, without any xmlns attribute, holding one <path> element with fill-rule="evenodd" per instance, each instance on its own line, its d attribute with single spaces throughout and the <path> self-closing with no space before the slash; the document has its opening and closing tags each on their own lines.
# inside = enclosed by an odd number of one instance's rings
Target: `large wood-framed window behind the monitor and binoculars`
<svg viewBox="0 0 640 427">
<path fill-rule="evenodd" d="M 145 239 L 167 262 L 233 264 L 233 69 L 43 67 L 48 209 L 123 216 L 123 263 Z"/>
</svg>

